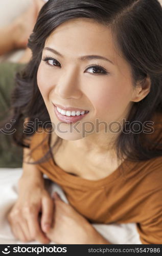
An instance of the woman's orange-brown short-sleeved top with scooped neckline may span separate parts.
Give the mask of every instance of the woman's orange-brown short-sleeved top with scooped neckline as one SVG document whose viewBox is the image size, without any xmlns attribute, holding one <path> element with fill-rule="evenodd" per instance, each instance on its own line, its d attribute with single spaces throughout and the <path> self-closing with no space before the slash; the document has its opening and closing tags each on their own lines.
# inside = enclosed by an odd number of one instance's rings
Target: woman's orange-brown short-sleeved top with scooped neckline
<svg viewBox="0 0 162 256">
<path fill-rule="evenodd" d="M 159 135 L 156 139 L 162 142 Z M 32 153 L 35 161 L 49 150 L 49 137 L 43 131 L 32 136 L 31 149 L 44 139 Z M 137 162 L 126 159 L 100 180 L 86 180 L 67 173 L 53 158 L 37 167 L 62 187 L 69 203 L 91 223 L 135 222 L 143 244 L 162 244 L 162 157 Z"/>
</svg>

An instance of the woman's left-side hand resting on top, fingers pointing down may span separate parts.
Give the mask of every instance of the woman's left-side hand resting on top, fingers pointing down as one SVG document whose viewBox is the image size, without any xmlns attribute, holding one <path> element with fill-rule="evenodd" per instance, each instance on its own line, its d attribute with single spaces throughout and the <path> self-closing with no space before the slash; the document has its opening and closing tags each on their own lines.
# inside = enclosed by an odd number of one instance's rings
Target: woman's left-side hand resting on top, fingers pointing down
<svg viewBox="0 0 162 256">
<path fill-rule="evenodd" d="M 35 166 L 32 166 L 36 171 Z M 51 226 L 54 202 L 44 188 L 44 180 L 40 174 L 30 173 L 22 176 L 18 183 L 18 200 L 8 214 L 14 236 L 22 241 L 37 240 L 43 244 L 50 240 L 45 236 Z M 39 223 L 39 212 L 42 212 Z M 43 231 L 44 232 L 43 232 Z"/>
</svg>

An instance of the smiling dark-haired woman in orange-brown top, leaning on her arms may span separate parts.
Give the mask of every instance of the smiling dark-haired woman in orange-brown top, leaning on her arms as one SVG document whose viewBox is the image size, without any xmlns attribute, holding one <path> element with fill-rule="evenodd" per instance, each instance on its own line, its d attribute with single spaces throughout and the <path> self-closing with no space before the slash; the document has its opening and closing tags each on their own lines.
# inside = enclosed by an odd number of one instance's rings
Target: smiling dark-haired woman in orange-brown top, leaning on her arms
<svg viewBox="0 0 162 256">
<path fill-rule="evenodd" d="M 156 0 L 41 9 L 12 95 L 13 137 L 29 147 L 9 214 L 20 240 L 109 244 L 91 222 L 135 222 L 143 244 L 162 243 L 161 25 Z M 42 174 L 70 205 L 53 205 Z"/>
</svg>

